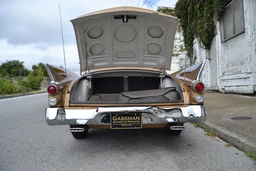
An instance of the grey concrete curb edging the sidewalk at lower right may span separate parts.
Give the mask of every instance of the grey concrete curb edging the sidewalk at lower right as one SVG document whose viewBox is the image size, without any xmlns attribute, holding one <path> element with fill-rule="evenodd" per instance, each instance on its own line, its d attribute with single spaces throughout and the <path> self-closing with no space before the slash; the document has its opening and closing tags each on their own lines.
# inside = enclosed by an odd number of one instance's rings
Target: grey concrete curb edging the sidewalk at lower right
<svg viewBox="0 0 256 171">
<path fill-rule="evenodd" d="M 223 126 L 220 126 L 211 121 L 205 121 L 204 123 L 201 123 L 201 127 L 203 129 L 215 131 L 217 136 L 220 139 L 232 144 L 232 146 L 240 149 L 241 151 L 243 151 L 245 153 L 246 152 L 256 153 L 256 144 L 255 143 L 249 142 L 244 137 L 241 137 L 241 135 L 237 135 L 235 133 L 228 131 Z"/>
</svg>

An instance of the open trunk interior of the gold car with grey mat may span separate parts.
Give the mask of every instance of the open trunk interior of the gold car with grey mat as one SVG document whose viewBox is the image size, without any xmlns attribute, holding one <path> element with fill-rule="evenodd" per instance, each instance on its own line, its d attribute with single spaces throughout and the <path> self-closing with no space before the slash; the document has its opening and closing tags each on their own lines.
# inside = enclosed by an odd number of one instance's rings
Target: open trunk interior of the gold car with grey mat
<svg viewBox="0 0 256 171">
<path fill-rule="evenodd" d="M 71 90 L 71 103 L 143 103 L 180 102 L 177 82 L 157 72 L 109 72 L 92 74 L 76 81 Z M 90 88 L 91 84 L 91 88 Z"/>
</svg>

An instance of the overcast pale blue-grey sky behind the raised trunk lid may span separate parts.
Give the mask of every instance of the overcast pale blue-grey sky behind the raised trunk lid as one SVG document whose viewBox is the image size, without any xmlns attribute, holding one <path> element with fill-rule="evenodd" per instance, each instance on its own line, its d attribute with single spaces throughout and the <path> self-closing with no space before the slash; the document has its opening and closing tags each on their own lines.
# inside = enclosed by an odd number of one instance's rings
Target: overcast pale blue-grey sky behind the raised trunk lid
<svg viewBox="0 0 256 171">
<path fill-rule="evenodd" d="M 151 2 L 157 6 L 174 7 L 177 0 Z M 142 7 L 144 0 L 0 0 L 0 63 L 19 59 L 25 61 L 28 69 L 38 62 L 64 66 L 60 5 L 67 69 L 78 73 L 75 34 L 69 20 L 105 8 L 137 7 L 138 3 Z M 153 5 L 154 10 L 157 6 Z M 149 3 L 143 8 L 152 9 Z"/>
</svg>

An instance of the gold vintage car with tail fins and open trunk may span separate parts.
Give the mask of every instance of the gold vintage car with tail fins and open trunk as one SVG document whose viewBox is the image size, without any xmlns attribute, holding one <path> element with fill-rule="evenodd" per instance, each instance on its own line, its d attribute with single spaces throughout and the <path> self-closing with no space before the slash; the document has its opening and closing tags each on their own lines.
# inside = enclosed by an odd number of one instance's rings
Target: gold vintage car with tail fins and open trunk
<svg viewBox="0 0 256 171">
<path fill-rule="evenodd" d="M 117 7 L 71 20 L 78 75 L 46 63 L 48 125 L 70 125 L 74 138 L 89 129 L 163 128 L 179 135 L 184 123 L 205 121 L 204 61 L 167 74 L 179 19 Z"/>
</svg>

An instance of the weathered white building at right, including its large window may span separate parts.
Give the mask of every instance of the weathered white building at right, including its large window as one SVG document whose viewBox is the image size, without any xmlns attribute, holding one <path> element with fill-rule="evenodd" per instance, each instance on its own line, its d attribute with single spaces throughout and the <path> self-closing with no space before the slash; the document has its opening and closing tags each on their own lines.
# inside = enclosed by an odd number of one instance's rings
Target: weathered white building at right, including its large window
<svg viewBox="0 0 256 171">
<path fill-rule="evenodd" d="M 207 52 L 194 41 L 196 63 L 206 60 L 202 81 L 208 90 L 256 91 L 256 0 L 230 0 Z M 208 60 L 209 57 L 211 60 Z"/>
</svg>

